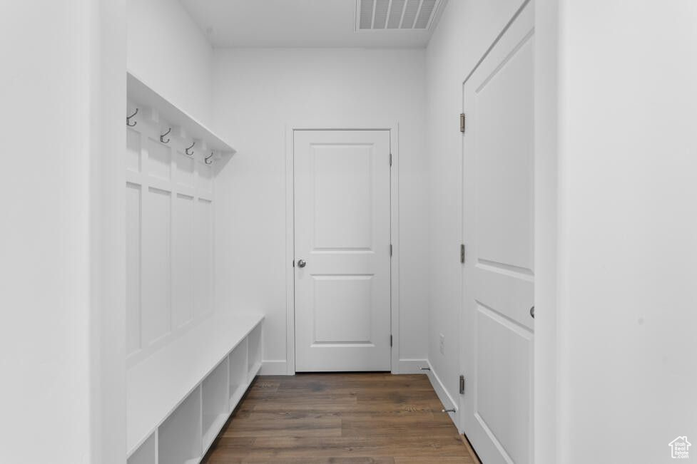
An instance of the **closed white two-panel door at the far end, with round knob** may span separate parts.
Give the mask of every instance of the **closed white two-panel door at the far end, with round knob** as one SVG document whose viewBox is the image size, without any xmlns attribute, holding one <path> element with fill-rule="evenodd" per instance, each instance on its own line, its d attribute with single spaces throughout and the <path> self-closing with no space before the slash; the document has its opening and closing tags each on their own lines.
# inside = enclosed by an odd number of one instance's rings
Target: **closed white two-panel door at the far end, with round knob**
<svg viewBox="0 0 697 464">
<path fill-rule="evenodd" d="M 295 130 L 295 370 L 390 370 L 390 131 Z"/>
</svg>

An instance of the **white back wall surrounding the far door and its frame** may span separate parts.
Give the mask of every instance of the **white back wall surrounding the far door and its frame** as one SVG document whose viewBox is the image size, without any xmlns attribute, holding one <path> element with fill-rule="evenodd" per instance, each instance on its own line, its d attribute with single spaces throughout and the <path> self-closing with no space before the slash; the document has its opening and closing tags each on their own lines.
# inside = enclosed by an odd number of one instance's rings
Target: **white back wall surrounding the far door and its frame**
<svg viewBox="0 0 697 464">
<path fill-rule="evenodd" d="M 215 126 L 239 151 L 216 180 L 218 307 L 260 310 L 285 373 L 285 125 L 400 123 L 400 358 L 427 354 L 424 51 L 215 51 Z"/>
</svg>

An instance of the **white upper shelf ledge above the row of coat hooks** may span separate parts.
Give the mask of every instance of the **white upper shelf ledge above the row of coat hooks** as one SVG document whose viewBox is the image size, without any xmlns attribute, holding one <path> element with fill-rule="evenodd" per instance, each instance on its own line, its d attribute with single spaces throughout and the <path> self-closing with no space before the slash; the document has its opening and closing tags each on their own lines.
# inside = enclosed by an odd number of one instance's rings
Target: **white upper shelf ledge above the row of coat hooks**
<svg viewBox="0 0 697 464">
<path fill-rule="evenodd" d="M 131 124 L 137 123 L 138 118 L 155 118 L 163 126 L 175 128 L 173 133 L 183 135 L 183 138 L 192 141 L 197 140 L 196 150 L 205 148 L 206 155 L 210 154 L 211 151 L 215 152 L 215 158 L 211 165 L 215 172 L 219 172 L 235 154 L 235 149 L 223 138 L 213 133 L 203 123 L 200 123 L 170 100 L 161 96 L 131 72 L 126 75 L 126 88 L 128 102 L 138 108 L 136 116 L 131 118 Z M 132 114 L 133 110 L 128 109 L 130 110 L 128 114 Z"/>
</svg>

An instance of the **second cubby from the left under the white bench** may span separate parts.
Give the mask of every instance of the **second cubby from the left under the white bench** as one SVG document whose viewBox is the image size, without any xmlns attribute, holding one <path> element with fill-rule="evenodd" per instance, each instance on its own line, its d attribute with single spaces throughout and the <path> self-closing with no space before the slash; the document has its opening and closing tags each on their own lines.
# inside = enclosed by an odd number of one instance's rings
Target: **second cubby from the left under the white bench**
<svg viewBox="0 0 697 464">
<path fill-rule="evenodd" d="M 196 387 L 158 428 L 160 463 L 198 463 L 201 448 L 201 388 Z"/>
</svg>

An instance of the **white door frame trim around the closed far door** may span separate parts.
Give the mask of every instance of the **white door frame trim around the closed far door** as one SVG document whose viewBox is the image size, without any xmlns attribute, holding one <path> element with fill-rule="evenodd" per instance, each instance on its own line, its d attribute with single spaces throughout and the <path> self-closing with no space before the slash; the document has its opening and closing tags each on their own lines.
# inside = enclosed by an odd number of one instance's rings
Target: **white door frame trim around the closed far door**
<svg viewBox="0 0 697 464">
<path fill-rule="evenodd" d="M 390 348 L 390 371 L 400 373 L 400 125 L 397 121 L 385 124 L 377 121 L 375 124 L 359 123 L 312 124 L 297 121 L 285 125 L 285 310 L 286 310 L 286 359 L 285 373 L 295 375 L 295 146 L 293 135 L 295 130 L 388 130 L 390 132 L 390 153 L 392 153 L 392 169 L 390 169 L 390 243 L 392 244 L 392 259 L 390 259 L 390 330 L 392 331 L 392 346 Z"/>
</svg>

